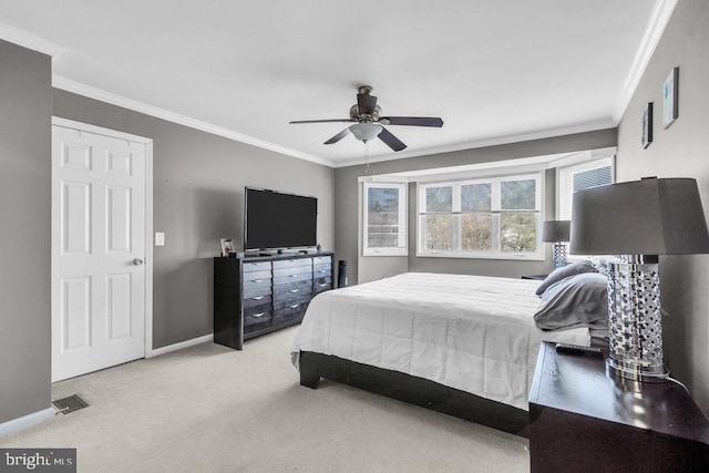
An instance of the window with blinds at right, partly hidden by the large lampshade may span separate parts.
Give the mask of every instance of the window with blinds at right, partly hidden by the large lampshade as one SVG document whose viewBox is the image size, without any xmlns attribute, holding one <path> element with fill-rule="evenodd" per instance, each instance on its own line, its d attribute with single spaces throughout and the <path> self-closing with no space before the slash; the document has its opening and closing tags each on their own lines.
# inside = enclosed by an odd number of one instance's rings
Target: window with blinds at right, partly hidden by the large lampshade
<svg viewBox="0 0 709 473">
<path fill-rule="evenodd" d="M 589 187 L 613 184 L 615 166 L 613 156 L 594 160 L 575 166 L 556 169 L 556 216 L 559 220 L 572 219 L 574 193 Z"/>
</svg>

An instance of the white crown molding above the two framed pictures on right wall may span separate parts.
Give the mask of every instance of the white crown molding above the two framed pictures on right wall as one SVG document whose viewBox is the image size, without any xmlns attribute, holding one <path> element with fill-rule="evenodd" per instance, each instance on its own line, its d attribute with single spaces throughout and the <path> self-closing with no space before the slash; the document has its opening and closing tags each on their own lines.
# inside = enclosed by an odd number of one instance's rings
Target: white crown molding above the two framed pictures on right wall
<svg viewBox="0 0 709 473">
<path fill-rule="evenodd" d="M 620 122 L 620 119 L 623 119 L 623 114 L 630 103 L 630 99 L 633 99 L 633 94 L 638 88 L 640 79 L 643 79 L 645 69 L 655 53 L 655 48 L 657 48 L 657 43 L 660 41 L 676 6 L 677 0 L 657 0 L 655 3 L 655 8 L 650 13 L 650 20 L 640 40 L 640 47 L 630 66 L 630 72 L 628 72 L 628 76 L 616 101 L 616 110 L 613 114 L 613 121 L 616 125 Z"/>
</svg>

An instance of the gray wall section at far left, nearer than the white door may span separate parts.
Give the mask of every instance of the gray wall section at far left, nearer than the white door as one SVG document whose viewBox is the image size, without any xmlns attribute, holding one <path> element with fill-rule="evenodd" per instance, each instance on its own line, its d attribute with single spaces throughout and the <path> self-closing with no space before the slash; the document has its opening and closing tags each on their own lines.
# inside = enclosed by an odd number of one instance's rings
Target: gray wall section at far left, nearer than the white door
<svg viewBox="0 0 709 473">
<path fill-rule="evenodd" d="M 51 61 L 0 40 L 0 423 L 51 407 Z"/>
</svg>

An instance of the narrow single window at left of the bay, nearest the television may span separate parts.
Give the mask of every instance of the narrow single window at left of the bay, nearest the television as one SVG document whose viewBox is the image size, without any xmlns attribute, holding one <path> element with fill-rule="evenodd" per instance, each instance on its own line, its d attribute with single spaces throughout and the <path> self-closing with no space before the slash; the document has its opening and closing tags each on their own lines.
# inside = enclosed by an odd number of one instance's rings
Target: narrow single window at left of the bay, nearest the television
<svg viewBox="0 0 709 473">
<path fill-rule="evenodd" d="M 363 256 L 405 256 L 407 184 L 364 183 Z"/>
</svg>

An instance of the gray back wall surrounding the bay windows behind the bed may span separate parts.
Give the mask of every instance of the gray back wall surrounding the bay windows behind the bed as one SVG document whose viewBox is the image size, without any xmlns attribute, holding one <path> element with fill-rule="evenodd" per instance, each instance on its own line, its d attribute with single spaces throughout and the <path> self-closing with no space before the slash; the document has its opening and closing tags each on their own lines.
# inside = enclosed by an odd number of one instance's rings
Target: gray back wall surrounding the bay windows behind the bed
<svg viewBox="0 0 709 473">
<path fill-rule="evenodd" d="M 513 160 L 528 156 L 567 153 L 594 148 L 612 147 L 617 144 L 616 128 L 600 130 L 544 140 L 512 143 L 499 146 L 487 146 L 464 150 L 453 153 L 433 154 L 407 160 L 393 160 L 373 163 L 369 166 L 368 175 L 397 173 L 403 171 L 428 169 L 435 167 L 460 166 L 464 164 L 486 163 Z M 388 273 L 403 270 L 474 274 L 484 276 L 520 277 L 524 274 L 548 273 L 552 263 L 545 261 L 512 261 L 500 259 L 459 259 L 459 258 L 418 258 L 415 256 L 415 198 L 412 194 L 415 186 L 410 188 L 409 200 L 409 257 L 402 261 L 401 257 L 362 257 L 358 254 L 358 223 L 359 185 L 358 177 L 366 175 L 364 166 L 339 167 L 335 171 L 335 235 L 338 258 L 348 261 L 350 284 L 358 280 L 371 280 L 386 276 Z M 554 210 L 554 176 L 547 173 L 546 210 Z M 551 194 L 549 194 L 551 193 Z M 363 266 L 359 268 L 359 266 Z M 377 269 L 377 267 L 381 269 Z"/>
</svg>

